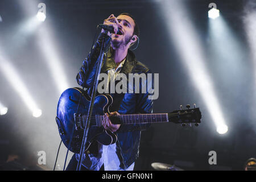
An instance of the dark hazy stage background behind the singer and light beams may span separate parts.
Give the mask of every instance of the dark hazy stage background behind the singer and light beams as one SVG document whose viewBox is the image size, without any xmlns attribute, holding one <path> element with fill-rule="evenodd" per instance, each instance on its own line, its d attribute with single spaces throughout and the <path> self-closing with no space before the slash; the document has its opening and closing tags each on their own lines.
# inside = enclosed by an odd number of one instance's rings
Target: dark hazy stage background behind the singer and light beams
<svg viewBox="0 0 256 182">
<path fill-rule="evenodd" d="M 209 55 L 205 64 L 229 127 L 228 133 L 223 135 L 216 132 L 207 109 L 210 103 L 201 99 L 190 73 L 181 64 L 175 43 L 169 39 L 171 32 L 166 28 L 168 19 L 162 18 L 160 0 L 33 1 L 35 7 L 29 7 L 28 2 L 0 1 L 0 15 L 3 19 L 0 22 L 0 42 L 5 55 L 9 56 L 20 77 L 26 82 L 43 114 L 39 118 L 32 117 L 24 102 L 0 73 L 0 101 L 9 107 L 9 112 L 0 116 L 2 160 L 8 154 L 18 154 L 24 159 L 24 165 L 28 166 L 28 160 L 36 162 L 37 151 L 43 150 L 46 151 L 48 169 L 53 169 L 60 142 L 55 122 L 60 94 L 49 74 L 45 57 L 38 48 L 38 36 L 31 34 L 15 37 L 18 25 L 36 15 L 39 2 L 46 3 L 47 18 L 38 28 L 47 25 L 52 27 L 69 87 L 78 86 L 75 77 L 82 60 L 90 51 L 97 24 L 102 23 L 110 14 L 117 16 L 129 12 L 136 18 L 141 30 L 139 46 L 134 53 L 152 72 L 159 73 L 159 98 L 154 101 L 154 113 L 170 112 L 179 109 L 180 105 L 194 103 L 200 107 L 203 118 L 199 127 L 183 128 L 174 123 L 163 123 L 143 131 L 135 170 L 152 170 L 153 162 L 176 164 L 187 170 L 242 170 L 245 161 L 255 157 L 254 68 L 243 24 L 245 5 L 249 1 L 214 1 L 243 47 L 242 67 L 236 69 L 233 69 L 236 62 L 214 60 L 210 56 L 207 13 L 212 1 L 184 1 L 191 14 L 191 22 L 200 35 L 204 52 Z M 20 3 L 27 3 L 25 6 L 29 7 L 30 13 L 26 13 Z M 226 53 L 232 54 L 228 50 Z M 2 64 L 0 66 L 5 67 Z M 208 163 L 208 153 L 212 150 L 217 152 L 217 165 L 213 166 Z M 59 169 L 63 168 L 65 151 L 63 146 L 57 162 Z"/>
</svg>

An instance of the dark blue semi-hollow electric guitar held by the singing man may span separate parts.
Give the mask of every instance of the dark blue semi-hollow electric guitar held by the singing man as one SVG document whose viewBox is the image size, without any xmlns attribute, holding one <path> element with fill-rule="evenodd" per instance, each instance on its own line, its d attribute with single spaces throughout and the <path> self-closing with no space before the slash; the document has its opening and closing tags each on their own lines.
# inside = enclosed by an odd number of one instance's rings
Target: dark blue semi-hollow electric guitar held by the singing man
<svg viewBox="0 0 256 182">
<path fill-rule="evenodd" d="M 117 141 L 117 135 L 109 130 L 105 130 L 102 125 L 104 114 L 109 113 L 109 106 L 112 105 L 112 102 L 113 98 L 109 94 L 102 94 L 95 97 L 88 139 L 85 144 L 86 150 L 94 140 L 104 145 L 113 144 Z M 80 88 L 69 88 L 61 94 L 57 105 L 56 122 L 61 140 L 65 146 L 74 153 L 80 152 L 85 129 L 84 123 L 86 123 L 89 104 L 90 97 L 85 91 L 82 92 Z M 109 118 L 113 124 L 121 125 L 174 122 L 180 123 L 183 126 L 185 123 L 189 123 L 190 125 L 191 123 L 196 123 L 196 126 L 198 126 L 201 122 L 201 112 L 199 108 L 187 108 L 187 110 L 175 110 L 171 113 L 121 114 L 109 116 Z"/>
</svg>

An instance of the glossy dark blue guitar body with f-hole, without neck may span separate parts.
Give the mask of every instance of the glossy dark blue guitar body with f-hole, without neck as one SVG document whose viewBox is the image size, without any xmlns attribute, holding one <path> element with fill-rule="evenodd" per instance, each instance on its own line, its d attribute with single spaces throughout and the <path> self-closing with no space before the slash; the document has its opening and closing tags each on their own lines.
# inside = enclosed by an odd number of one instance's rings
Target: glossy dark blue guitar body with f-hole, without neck
<svg viewBox="0 0 256 182">
<path fill-rule="evenodd" d="M 82 94 L 82 96 L 81 96 Z M 81 101 L 80 101 L 81 98 Z M 80 101 L 79 110 L 77 110 Z M 96 115 L 104 115 L 109 113 L 109 106 L 112 104 L 113 98 L 109 95 L 99 95 L 95 98 L 93 105 L 93 113 L 91 119 L 91 125 L 88 131 L 88 139 L 85 148 L 90 146 L 94 140 L 104 145 L 113 144 L 117 140 L 117 136 L 112 132 L 105 130 L 103 126 L 93 126 L 93 117 L 95 121 Z M 79 153 L 84 130 L 75 129 L 75 117 L 74 114 L 88 114 L 90 105 L 90 97 L 80 88 L 69 88 L 65 90 L 59 99 L 57 105 L 57 117 L 56 122 L 59 128 L 61 140 L 65 146 L 70 147 L 69 150 L 74 153 Z M 71 140 L 70 140 L 71 139 Z"/>
</svg>

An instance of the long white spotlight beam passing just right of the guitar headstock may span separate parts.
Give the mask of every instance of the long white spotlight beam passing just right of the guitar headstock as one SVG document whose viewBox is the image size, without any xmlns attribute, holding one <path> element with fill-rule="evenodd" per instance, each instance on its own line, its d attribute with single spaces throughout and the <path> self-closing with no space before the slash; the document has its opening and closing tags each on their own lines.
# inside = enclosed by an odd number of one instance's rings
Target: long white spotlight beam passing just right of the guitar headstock
<svg viewBox="0 0 256 182">
<path fill-rule="evenodd" d="M 188 69 L 189 75 L 199 90 L 205 105 L 217 127 L 218 133 L 224 133 L 228 129 L 222 115 L 216 94 L 214 93 L 212 80 L 210 79 L 204 60 L 206 56 L 201 47 L 200 38 L 196 34 L 187 10 L 180 1 L 162 1 L 164 20 L 170 31 L 171 40 L 176 45 L 177 52 Z"/>
</svg>

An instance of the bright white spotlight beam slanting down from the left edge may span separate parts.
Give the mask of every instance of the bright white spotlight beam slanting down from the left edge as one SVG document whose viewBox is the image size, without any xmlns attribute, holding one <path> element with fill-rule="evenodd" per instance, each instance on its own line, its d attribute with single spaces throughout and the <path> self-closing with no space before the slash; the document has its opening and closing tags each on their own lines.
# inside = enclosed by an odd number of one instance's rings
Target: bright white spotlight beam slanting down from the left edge
<svg viewBox="0 0 256 182">
<path fill-rule="evenodd" d="M 0 70 L 6 77 L 6 80 L 10 82 L 10 85 L 13 86 L 13 89 L 19 94 L 23 102 L 27 105 L 28 109 L 32 111 L 32 115 L 34 117 L 39 117 L 42 114 L 42 111 L 36 105 L 30 92 L 28 92 L 28 89 L 18 75 L 18 71 L 15 70 L 14 66 L 11 64 L 11 61 L 8 60 L 2 52 L 0 52 L 0 65 Z"/>
</svg>

